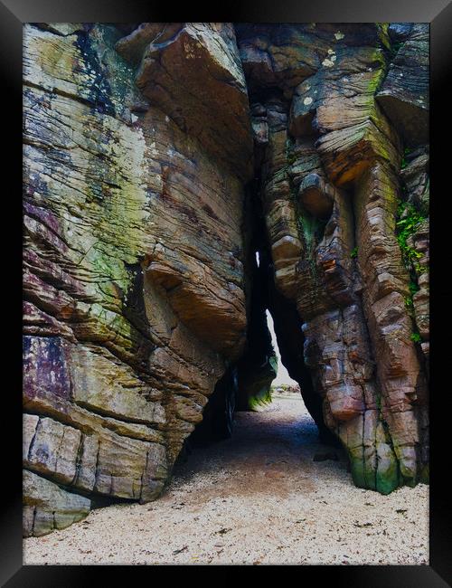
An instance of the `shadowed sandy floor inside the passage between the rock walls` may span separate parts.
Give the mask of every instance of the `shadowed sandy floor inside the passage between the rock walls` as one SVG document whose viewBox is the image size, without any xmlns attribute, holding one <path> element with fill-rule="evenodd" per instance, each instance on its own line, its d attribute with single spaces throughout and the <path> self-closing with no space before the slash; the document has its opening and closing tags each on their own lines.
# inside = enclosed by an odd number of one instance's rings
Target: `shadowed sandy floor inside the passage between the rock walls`
<svg viewBox="0 0 452 588">
<path fill-rule="evenodd" d="M 235 413 L 231 438 L 187 444 L 174 466 L 170 488 L 202 477 L 203 492 L 209 487 L 212 496 L 284 496 L 313 491 L 310 478 L 325 466 L 344 476 L 344 451 L 319 441 L 299 391 L 273 392 L 272 402 L 258 411 Z"/>
</svg>

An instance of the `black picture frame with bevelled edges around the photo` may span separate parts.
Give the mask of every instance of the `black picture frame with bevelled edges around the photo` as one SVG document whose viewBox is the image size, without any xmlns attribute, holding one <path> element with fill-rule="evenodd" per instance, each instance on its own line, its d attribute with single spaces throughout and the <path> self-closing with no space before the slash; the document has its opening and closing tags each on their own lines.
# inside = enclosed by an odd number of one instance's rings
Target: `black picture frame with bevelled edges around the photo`
<svg viewBox="0 0 452 588">
<path fill-rule="evenodd" d="M 430 24 L 430 156 L 431 190 L 433 191 L 431 211 L 431 375 L 432 390 L 430 409 L 432 420 L 431 437 L 431 483 L 430 483 L 430 537 L 429 565 L 379 565 L 379 566 L 289 566 L 297 574 L 297 582 L 306 582 L 306 574 L 315 583 L 334 583 L 334 587 L 346 585 L 359 588 L 440 588 L 450 586 L 452 581 L 452 540 L 450 532 L 450 498 L 447 486 L 447 466 L 450 463 L 450 441 L 447 432 L 452 413 L 450 391 L 447 388 L 447 366 L 451 327 L 447 325 L 447 306 L 452 300 L 450 275 L 447 280 L 447 245 L 441 242 L 447 236 L 447 199 L 450 167 L 450 94 L 447 81 L 452 70 L 452 3 L 447 0 L 373 0 L 363 3 L 359 0 L 236 0 L 229 5 L 204 7 L 195 10 L 193 5 L 177 10 L 170 3 L 156 5 L 150 0 L 0 0 L 0 63 L 5 100 L 4 141 L 7 141 L 5 175 L 12 180 L 11 188 L 5 191 L 4 202 L 8 213 L 3 216 L 3 226 L 14 227 L 13 237 L 4 245 L 4 255 L 10 262 L 8 282 L 22 291 L 20 255 L 22 242 L 17 225 L 22 226 L 20 216 L 19 183 L 22 185 L 22 30 L 29 22 L 173 22 L 173 21 L 216 21 L 216 22 L 421 22 Z M 188 14 L 189 13 L 189 14 Z M 5 126 L 9 126 L 8 131 Z M 15 171 L 17 170 L 17 171 Z M 443 182 L 441 181 L 441 178 Z M 5 178 L 6 179 L 6 178 Z M 11 204 L 11 205 L 10 205 Z M 17 216 L 15 216 L 17 214 Z M 16 225 L 17 223 L 17 225 Z M 5 246 L 7 250 L 5 250 Z M 15 251 L 17 248 L 17 251 Z M 14 251 L 12 254 L 9 251 Z M 449 248 L 450 251 L 450 248 Z M 8 289 L 7 314 L 21 320 L 21 296 L 12 295 Z M 17 306 L 16 306 L 17 305 Z M 4 307 L 5 308 L 5 307 Z M 17 308 L 17 315 L 13 310 Z M 450 311 L 448 311 L 450 312 Z M 22 322 L 22 321 L 21 321 Z M 17 328 L 17 330 L 16 330 Z M 441 342 L 441 331 L 445 335 Z M 15 325 L 9 332 L 8 352 L 12 358 L 8 370 L 17 374 L 19 382 L 4 386 L 4 423 L 10 423 L 7 446 L 3 448 L 4 487 L 7 496 L 2 501 L 0 526 L 0 581 L 9 588 L 27 586 L 86 586 L 90 583 L 120 583 L 122 574 L 137 572 L 141 566 L 38 566 L 23 565 L 22 562 L 22 403 L 17 390 L 22 376 L 22 343 L 20 328 Z M 17 337 L 15 335 L 17 333 Z M 447 342 L 448 339 L 448 342 Z M 4 339 L 6 340 L 6 339 Z M 11 345 L 9 345 L 11 343 Z M 17 345 L 17 347 L 15 346 Z M 5 368 L 4 368 L 5 369 Z M 441 384 L 441 370 L 446 376 Z M 450 380 L 450 377 L 448 377 Z M 14 377 L 15 380 L 15 377 Z M 4 405 L 5 405 L 4 404 Z M 5 416 L 6 415 L 6 416 Z M 4 441 L 5 442 L 5 441 Z M 7 479 L 7 482 L 6 482 Z M 174 566 L 180 567 L 180 566 Z M 194 567 L 194 566 L 190 566 Z M 207 566 L 206 566 L 207 567 Z M 217 566 L 214 566 L 215 568 Z M 235 566 L 232 566 L 235 567 Z M 242 567 L 242 566 L 240 566 Z M 229 569 L 229 568 L 228 568 Z M 259 570 L 262 567 L 252 568 Z M 141 570 L 148 574 L 146 568 Z M 113 575 L 114 574 L 114 575 Z M 301 578 L 298 578 L 301 574 Z M 98 576 L 96 580 L 95 575 Z M 226 577 L 224 578 L 226 580 Z M 148 581 L 155 581 L 154 577 Z"/>
</svg>

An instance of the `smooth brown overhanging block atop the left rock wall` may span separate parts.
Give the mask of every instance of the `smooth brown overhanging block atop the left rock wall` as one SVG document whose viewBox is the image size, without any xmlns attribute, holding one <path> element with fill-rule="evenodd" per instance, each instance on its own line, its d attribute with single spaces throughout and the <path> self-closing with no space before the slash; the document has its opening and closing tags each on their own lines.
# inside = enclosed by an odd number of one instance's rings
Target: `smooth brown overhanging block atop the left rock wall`
<svg viewBox="0 0 452 588">
<path fill-rule="evenodd" d="M 166 24 L 161 24 L 160 33 L 146 31 L 137 87 L 188 135 L 198 138 L 202 147 L 229 164 L 235 174 L 250 177 L 248 93 L 233 26 L 170 26 L 171 31 Z M 133 34 L 118 45 L 126 57 L 137 45 L 137 34 Z"/>
</svg>

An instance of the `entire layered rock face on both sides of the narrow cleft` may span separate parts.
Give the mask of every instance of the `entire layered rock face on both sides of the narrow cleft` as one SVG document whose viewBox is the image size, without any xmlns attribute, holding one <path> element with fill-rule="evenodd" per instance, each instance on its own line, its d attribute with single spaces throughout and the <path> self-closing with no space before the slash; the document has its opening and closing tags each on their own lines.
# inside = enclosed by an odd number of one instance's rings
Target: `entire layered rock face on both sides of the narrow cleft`
<svg viewBox="0 0 452 588">
<path fill-rule="evenodd" d="M 231 434 L 266 308 L 354 483 L 428 479 L 427 113 L 428 25 L 24 26 L 25 536 Z"/>
</svg>

